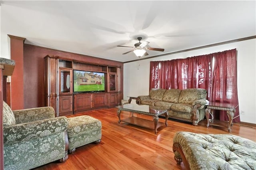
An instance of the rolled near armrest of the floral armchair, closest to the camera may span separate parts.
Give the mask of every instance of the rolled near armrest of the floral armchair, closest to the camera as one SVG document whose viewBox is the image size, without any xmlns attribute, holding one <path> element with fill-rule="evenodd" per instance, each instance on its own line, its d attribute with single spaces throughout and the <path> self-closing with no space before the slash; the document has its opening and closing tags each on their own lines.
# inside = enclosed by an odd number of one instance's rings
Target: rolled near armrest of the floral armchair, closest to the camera
<svg viewBox="0 0 256 170">
<path fill-rule="evenodd" d="M 56 117 L 29 123 L 4 126 L 4 143 L 28 141 L 31 138 L 64 132 L 68 128 L 66 117 Z"/>
</svg>

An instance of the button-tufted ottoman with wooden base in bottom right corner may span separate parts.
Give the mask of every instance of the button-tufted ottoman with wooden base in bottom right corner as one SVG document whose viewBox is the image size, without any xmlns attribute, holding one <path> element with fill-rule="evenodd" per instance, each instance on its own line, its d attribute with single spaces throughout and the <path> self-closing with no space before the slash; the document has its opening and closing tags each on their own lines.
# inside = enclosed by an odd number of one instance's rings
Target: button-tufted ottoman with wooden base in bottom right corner
<svg viewBox="0 0 256 170">
<path fill-rule="evenodd" d="M 191 170 L 255 170 L 256 143 L 231 134 L 177 132 L 174 159 Z"/>
</svg>

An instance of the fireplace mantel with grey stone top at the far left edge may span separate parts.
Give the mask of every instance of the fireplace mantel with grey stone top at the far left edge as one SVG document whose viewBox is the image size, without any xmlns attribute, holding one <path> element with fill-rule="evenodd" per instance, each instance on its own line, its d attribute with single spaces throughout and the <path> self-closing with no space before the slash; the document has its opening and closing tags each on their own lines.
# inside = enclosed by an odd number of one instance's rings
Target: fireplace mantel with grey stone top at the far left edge
<svg viewBox="0 0 256 170">
<path fill-rule="evenodd" d="M 4 76 L 12 75 L 15 62 L 10 59 L 0 58 L 0 170 L 4 169 L 4 133 L 3 133 L 3 93 L 6 85 L 3 85 Z"/>
</svg>

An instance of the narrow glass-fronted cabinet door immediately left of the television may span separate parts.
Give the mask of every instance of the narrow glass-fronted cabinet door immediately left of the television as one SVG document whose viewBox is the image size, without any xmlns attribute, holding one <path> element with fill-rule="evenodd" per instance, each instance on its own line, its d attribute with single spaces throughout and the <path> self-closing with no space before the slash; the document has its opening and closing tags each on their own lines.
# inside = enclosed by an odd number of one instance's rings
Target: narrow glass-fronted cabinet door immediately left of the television
<svg viewBox="0 0 256 170">
<path fill-rule="evenodd" d="M 59 71 L 60 94 L 72 94 L 72 69 L 60 68 Z"/>
</svg>

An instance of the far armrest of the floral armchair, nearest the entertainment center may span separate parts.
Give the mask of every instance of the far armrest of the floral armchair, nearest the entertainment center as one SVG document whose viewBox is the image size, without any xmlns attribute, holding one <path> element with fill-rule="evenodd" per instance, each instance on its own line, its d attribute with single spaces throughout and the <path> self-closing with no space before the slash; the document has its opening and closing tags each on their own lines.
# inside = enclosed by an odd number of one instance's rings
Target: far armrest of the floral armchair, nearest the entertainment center
<svg viewBox="0 0 256 170">
<path fill-rule="evenodd" d="M 52 107 L 37 107 L 12 112 L 14 114 L 16 124 L 40 121 L 55 117 L 55 111 Z"/>
</svg>

